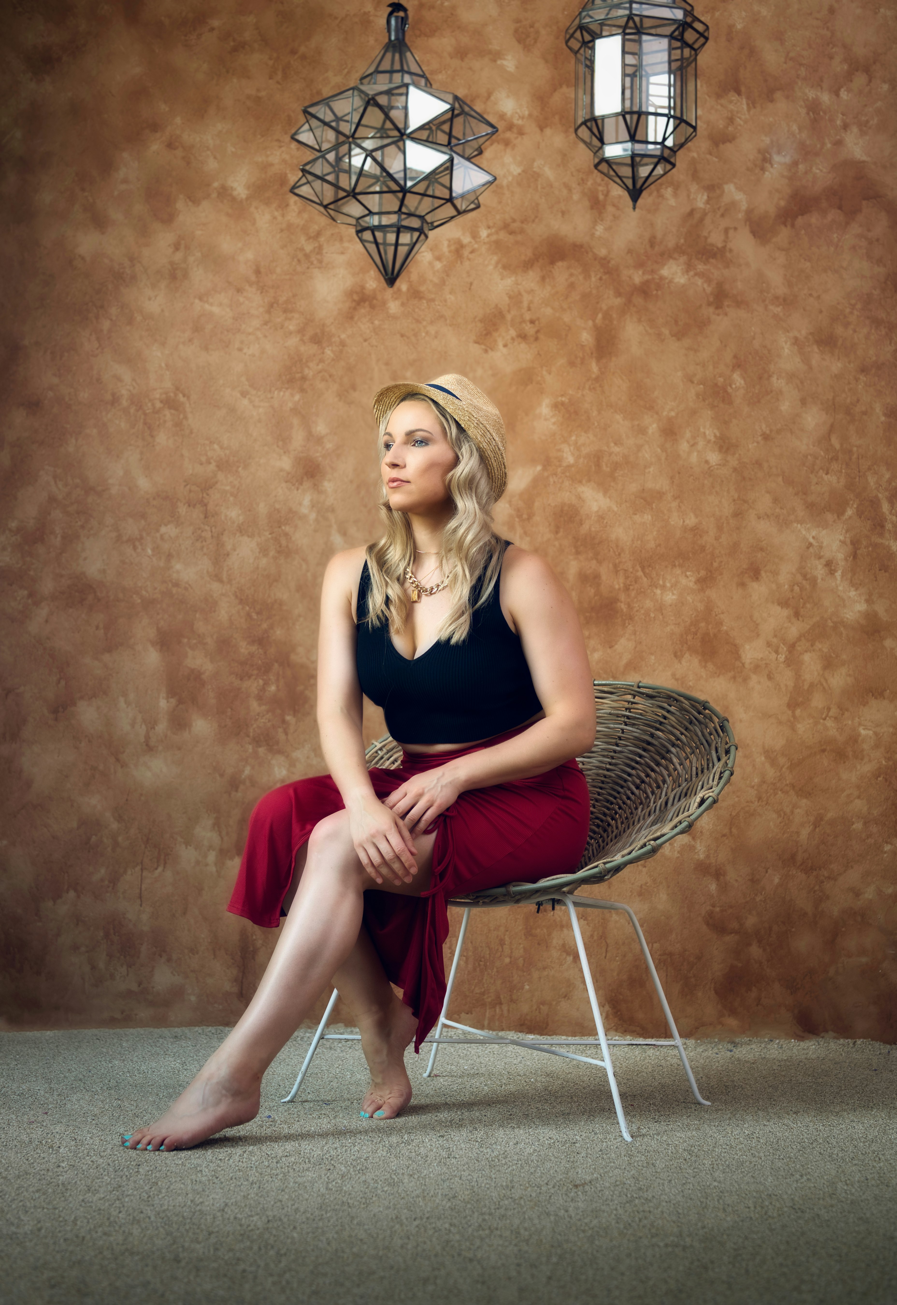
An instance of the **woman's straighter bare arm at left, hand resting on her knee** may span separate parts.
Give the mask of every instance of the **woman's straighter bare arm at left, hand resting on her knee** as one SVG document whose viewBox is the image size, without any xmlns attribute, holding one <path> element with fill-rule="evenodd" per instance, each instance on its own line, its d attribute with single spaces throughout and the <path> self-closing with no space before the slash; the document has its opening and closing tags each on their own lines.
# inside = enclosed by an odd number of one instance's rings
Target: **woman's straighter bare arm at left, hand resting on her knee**
<svg viewBox="0 0 897 1305">
<path fill-rule="evenodd" d="M 364 549 L 336 553 L 321 590 L 318 729 L 321 750 L 349 814 L 359 860 L 377 883 L 409 883 L 417 873 L 415 840 L 398 812 L 374 793 L 361 737 L 361 686 L 356 669 L 352 598 Z"/>
</svg>

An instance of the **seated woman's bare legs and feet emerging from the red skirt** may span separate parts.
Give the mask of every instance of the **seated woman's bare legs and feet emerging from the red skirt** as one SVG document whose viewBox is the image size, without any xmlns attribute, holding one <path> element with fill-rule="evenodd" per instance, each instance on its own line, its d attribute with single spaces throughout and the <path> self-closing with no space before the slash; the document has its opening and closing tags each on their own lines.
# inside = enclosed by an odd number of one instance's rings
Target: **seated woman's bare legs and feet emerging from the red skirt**
<svg viewBox="0 0 897 1305">
<path fill-rule="evenodd" d="M 372 1070 L 362 1113 L 395 1114 L 411 1098 L 404 1048 L 413 1037 L 415 1019 L 392 993 L 361 925 L 362 898 L 368 887 L 412 897 L 425 891 L 434 842 L 435 834 L 415 838 L 417 873 L 411 883 L 392 885 L 385 878 L 377 885 L 356 855 L 348 814 L 335 812 L 319 821 L 309 838 L 304 867 L 297 857 L 299 887 L 246 1010 L 166 1113 L 129 1134 L 124 1144 L 130 1150 L 175 1151 L 253 1120 L 265 1070 L 334 976 L 359 1021 Z"/>
</svg>

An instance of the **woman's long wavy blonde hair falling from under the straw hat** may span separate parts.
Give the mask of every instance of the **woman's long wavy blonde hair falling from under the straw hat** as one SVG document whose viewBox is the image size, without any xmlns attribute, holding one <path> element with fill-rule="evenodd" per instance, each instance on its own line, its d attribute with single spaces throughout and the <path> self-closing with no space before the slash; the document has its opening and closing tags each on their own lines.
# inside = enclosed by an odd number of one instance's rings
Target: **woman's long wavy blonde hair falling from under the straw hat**
<svg viewBox="0 0 897 1305">
<path fill-rule="evenodd" d="M 458 458 L 446 476 L 446 488 L 455 504 L 455 513 L 442 534 L 439 562 L 442 574 L 448 576 L 451 608 L 439 626 L 439 642 L 462 643 L 471 629 L 475 608 L 481 607 L 495 587 L 502 569 L 502 540 L 493 530 L 492 512 L 495 497 L 480 453 L 469 435 L 451 412 L 424 394 L 408 394 L 399 399 L 428 403 L 439 419 L 448 444 Z M 385 455 L 383 437 L 396 403 L 379 427 L 379 457 Z M 408 596 L 403 589 L 405 566 L 413 570 L 415 536 L 404 512 L 390 508 L 386 485 L 381 483 L 379 513 L 383 518 L 383 538 L 368 544 L 365 556 L 370 574 L 368 592 L 368 620 L 372 625 L 390 622 L 392 634 L 400 634 L 408 616 Z M 471 591 L 478 576 L 482 585 L 476 603 L 471 604 Z"/>
</svg>

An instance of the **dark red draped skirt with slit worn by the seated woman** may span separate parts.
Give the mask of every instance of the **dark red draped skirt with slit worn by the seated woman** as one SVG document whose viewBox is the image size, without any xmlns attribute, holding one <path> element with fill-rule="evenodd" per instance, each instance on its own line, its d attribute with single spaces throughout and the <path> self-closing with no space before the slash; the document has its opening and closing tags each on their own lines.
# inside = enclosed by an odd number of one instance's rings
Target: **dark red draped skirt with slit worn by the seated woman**
<svg viewBox="0 0 897 1305">
<path fill-rule="evenodd" d="M 498 739 L 489 740 L 494 743 Z M 370 771 L 374 792 L 386 797 L 412 775 L 484 746 L 404 753 L 396 770 Z M 228 911 L 276 928 L 296 852 L 319 820 L 343 806 L 330 775 L 297 779 L 266 793 L 249 820 L 246 850 Z M 415 1051 L 420 1051 L 439 1018 L 445 1000 L 446 900 L 512 881 L 570 873 L 585 848 L 588 823 L 588 787 L 575 761 L 532 779 L 473 788 L 437 817 L 433 872 L 425 893 L 399 897 L 373 886 L 365 891 L 365 928 L 386 976 L 417 1015 Z"/>
</svg>

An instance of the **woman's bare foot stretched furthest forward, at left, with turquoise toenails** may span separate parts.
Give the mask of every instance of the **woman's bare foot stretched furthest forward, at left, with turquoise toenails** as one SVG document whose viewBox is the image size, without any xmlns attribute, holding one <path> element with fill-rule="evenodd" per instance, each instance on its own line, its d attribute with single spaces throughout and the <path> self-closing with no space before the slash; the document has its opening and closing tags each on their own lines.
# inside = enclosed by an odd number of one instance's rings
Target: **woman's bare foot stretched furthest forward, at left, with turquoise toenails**
<svg viewBox="0 0 897 1305">
<path fill-rule="evenodd" d="M 254 1120 L 261 1084 L 261 1077 L 237 1081 L 227 1069 L 206 1065 L 155 1124 L 123 1138 L 123 1143 L 129 1151 L 179 1151 L 196 1146 L 222 1129 Z"/>
</svg>

